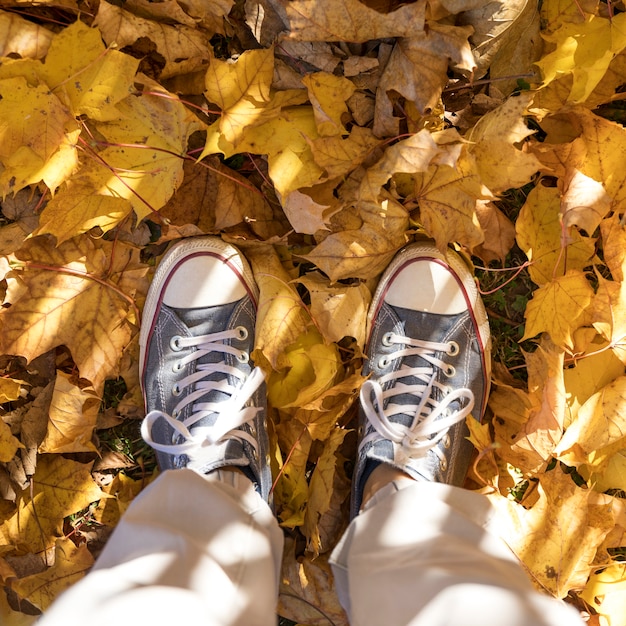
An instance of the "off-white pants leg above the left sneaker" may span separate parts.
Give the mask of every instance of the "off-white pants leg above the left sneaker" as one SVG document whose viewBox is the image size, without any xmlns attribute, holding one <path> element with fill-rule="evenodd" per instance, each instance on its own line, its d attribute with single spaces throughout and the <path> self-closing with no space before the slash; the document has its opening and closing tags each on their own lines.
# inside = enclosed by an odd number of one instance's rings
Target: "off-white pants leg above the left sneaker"
<svg viewBox="0 0 626 626">
<path fill-rule="evenodd" d="M 40 626 L 275 626 L 283 535 L 235 472 L 164 472 Z"/>
</svg>

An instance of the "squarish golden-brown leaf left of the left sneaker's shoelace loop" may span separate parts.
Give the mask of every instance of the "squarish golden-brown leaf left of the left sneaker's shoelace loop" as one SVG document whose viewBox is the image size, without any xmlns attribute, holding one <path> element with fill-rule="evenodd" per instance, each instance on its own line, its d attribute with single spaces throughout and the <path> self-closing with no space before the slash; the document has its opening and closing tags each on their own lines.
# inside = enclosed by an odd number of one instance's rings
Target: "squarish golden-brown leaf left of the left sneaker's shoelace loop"
<svg viewBox="0 0 626 626">
<path fill-rule="evenodd" d="M 96 427 L 100 399 L 81 389 L 72 376 L 57 372 L 50 403 L 48 431 L 39 452 L 92 452 L 91 438 Z"/>
</svg>

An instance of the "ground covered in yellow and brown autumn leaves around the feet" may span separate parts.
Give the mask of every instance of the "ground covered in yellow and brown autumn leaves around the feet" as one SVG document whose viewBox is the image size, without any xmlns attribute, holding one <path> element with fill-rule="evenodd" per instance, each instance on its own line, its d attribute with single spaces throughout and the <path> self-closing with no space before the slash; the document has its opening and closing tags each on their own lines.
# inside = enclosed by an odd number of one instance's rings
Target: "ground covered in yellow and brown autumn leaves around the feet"
<svg viewBox="0 0 626 626">
<path fill-rule="evenodd" d="M 261 292 L 281 615 L 345 623 L 327 556 L 367 305 L 428 236 L 473 261 L 492 326 L 468 486 L 538 588 L 626 624 L 619 5 L 57 4 L 0 10 L 3 623 L 84 575 L 155 478 L 141 308 L 168 243 L 213 233 Z"/>
</svg>

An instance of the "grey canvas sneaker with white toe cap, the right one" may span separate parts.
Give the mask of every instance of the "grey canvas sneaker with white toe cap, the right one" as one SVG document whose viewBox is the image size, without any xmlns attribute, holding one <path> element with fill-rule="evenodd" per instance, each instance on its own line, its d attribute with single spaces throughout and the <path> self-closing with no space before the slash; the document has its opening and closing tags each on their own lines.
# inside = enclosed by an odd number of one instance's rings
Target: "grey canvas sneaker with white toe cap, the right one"
<svg viewBox="0 0 626 626">
<path fill-rule="evenodd" d="M 461 486 L 473 454 L 465 418 L 483 416 L 490 379 L 487 314 L 452 250 L 405 247 L 384 272 L 368 314 L 352 515 L 372 470 Z"/>
</svg>

